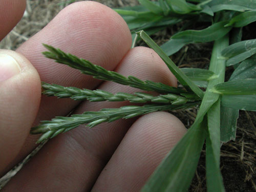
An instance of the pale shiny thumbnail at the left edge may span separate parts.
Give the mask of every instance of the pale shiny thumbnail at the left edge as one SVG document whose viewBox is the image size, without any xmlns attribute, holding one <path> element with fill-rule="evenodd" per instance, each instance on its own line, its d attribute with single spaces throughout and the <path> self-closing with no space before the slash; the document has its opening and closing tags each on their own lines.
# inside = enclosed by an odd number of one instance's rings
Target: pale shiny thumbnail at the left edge
<svg viewBox="0 0 256 192">
<path fill-rule="evenodd" d="M 0 82 L 19 74 L 21 71 L 22 69 L 13 57 L 0 53 Z"/>
</svg>

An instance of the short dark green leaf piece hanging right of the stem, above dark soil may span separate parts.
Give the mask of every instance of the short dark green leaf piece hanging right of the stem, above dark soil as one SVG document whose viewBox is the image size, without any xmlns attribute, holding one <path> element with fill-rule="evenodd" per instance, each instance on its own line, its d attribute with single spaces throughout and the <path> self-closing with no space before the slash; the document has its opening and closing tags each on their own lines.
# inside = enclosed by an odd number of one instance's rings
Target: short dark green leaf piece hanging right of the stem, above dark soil
<svg viewBox="0 0 256 192">
<path fill-rule="evenodd" d="M 221 142 L 236 139 L 239 110 L 221 105 Z"/>
</svg>

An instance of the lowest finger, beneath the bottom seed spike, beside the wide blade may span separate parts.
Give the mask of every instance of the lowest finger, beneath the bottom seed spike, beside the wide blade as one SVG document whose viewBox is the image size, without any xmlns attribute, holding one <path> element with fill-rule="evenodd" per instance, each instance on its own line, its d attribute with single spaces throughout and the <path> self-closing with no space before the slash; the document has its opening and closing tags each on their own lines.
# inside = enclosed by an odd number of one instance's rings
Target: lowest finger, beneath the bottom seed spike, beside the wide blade
<svg viewBox="0 0 256 192">
<path fill-rule="evenodd" d="M 142 116 L 126 133 L 92 191 L 139 191 L 185 133 L 183 123 L 172 114 Z"/>
</svg>

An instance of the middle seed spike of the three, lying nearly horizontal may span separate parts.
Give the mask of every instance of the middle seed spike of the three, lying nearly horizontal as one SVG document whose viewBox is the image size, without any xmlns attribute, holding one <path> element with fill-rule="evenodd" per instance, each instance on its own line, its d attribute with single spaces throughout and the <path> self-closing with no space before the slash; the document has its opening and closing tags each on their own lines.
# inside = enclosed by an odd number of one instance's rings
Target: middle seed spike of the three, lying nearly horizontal
<svg viewBox="0 0 256 192">
<path fill-rule="evenodd" d="M 166 94 L 153 96 L 146 93 L 116 93 L 112 94 L 103 90 L 88 90 L 79 89 L 75 87 L 63 87 L 57 84 L 49 84 L 46 82 L 41 82 L 41 86 L 44 89 L 42 94 L 47 96 L 56 96 L 58 98 L 70 97 L 74 100 L 89 100 L 92 102 L 97 101 L 130 101 L 135 103 L 145 103 L 148 101 L 156 103 L 172 103 L 172 104 L 184 104 L 186 102 L 193 102 L 200 100 L 197 95 L 185 94 L 184 97 L 175 94 Z"/>
</svg>

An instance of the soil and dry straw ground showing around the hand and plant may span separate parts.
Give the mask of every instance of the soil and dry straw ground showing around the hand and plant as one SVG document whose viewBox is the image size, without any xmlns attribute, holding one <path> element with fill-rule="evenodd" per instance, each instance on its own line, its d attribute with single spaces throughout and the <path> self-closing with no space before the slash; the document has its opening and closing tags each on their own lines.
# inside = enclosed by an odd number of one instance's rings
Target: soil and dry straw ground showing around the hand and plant
<svg viewBox="0 0 256 192">
<path fill-rule="evenodd" d="M 27 0 L 27 10 L 20 23 L 10 34 L 0 42 L 0 49 L 15 50 L 30 36 L 47 25 L 50 20 L 71 1 L 64 0 Z M 77 2 L 77 1 L 74 1 Z M 138 4 L 136 0 L 98 0 L 111 8 L 133 6 Z M 255 38 L 254 25 L 244 29 L 244 39 Z M 152 37 L 161 45 L 177 31 L 181 26 L 159 32 Z M 194 26 L 197 28 L 196 26 Z M 201 26 L 203 27 L 203 26 Z M 254 35 L 254 36 L 253 36 Z M 212 44 L 190 44 L 172 56 L 179 67 L 194 67 L 207 69 L 211 54 Z M 232 68 L 227 69 L 227 76 Z M 186 127 L 189 127 L 196 117 L 196 109 L 172 112 L 179 117 Z M 221 171 L 226 191 L 256 191 L 256 113 L 240 111 L 238 119 L 237 137 L 235 141 L 225 143 L 221 147 Z M 22 166 L 14 167 L 8 175 L 0 179 L 0 188 Z M 205 183 L 205 151 L 202 152 L 196 175 L 189 191 L 206 191 Z"/>
</svg>

